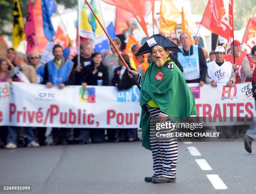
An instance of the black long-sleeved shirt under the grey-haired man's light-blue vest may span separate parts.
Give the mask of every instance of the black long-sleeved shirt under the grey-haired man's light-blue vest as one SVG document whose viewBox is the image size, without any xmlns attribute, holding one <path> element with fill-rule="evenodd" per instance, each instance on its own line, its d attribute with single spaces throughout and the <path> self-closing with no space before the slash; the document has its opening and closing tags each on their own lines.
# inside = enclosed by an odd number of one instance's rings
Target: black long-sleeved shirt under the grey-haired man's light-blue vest
<svg viewBox="0 0 256 194">
<path fill-rule="evenodd" d="M 178 58 L 178 53 L 175 52 L 174 55 Z M 183 49 L 183 55 L 188 56 L 189 51 Z M 190 47 L 190 55 L 193 55 L 193 45 Z M 205 55 L 202 51 L 202 48 L 198 47 L 198 59 L 199 59 L 199 68 L 200 68 L 200 78 L 193 80 L 186 80 L 187 83 L 199 83 L 200 81 L 205 82 L 205 78 L 207 75 L 207 65 L 205 61 Z"/>
</svg>

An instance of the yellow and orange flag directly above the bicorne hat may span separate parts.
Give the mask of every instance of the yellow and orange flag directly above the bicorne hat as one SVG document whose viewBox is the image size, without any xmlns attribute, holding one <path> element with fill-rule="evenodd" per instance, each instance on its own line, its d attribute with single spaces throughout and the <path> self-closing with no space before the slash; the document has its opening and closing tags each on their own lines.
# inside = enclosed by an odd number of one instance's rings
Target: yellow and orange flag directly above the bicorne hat
<svg viewBox="0 0 256 194">
<path fill-rule="evenodd" d="M 172 0 L 161 0 L 159 16 L 160 33 L 170 35 L 177 28 L 177 23 L 173 20 L 180 16 Z"/>
</svg>

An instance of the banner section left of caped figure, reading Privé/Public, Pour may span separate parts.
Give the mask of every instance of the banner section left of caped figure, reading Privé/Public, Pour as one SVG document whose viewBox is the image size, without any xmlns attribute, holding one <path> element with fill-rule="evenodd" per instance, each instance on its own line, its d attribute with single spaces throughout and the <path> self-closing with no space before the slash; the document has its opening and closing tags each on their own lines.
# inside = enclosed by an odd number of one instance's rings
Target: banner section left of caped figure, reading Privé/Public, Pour
<svg viewBox="0 0 256 194">
<path fill-rule="evenodd" d="M 67 86 L 0 83 L 0 125 L 68 128 L 136 128 L 140 122 L 137 87 Z"/>
</svg>

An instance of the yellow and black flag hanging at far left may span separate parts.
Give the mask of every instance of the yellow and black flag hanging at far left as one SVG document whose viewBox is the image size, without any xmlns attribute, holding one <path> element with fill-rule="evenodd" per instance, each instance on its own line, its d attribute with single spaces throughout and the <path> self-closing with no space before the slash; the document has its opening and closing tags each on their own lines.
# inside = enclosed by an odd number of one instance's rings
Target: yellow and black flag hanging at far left
<svg viewBox="0 0 256 194">
<path fill-rule="evenodd" d="M 25 40 L 25 33 L 20 3 L 19 0 L 13 0 L 13 48 L 17 49 L 23 40 Z"/>
</svg>

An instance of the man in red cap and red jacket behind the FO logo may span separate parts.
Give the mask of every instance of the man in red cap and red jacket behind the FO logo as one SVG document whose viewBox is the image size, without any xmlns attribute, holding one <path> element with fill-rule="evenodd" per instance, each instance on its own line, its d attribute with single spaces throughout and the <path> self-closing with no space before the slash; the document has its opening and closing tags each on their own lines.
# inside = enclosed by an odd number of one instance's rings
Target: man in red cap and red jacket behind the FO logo
<svg viewBox="0 0 256 194">
<path fill-rule="evenodd" d="M 235 50 L 233 50 L 233 44 L 235 45 Z M 236 83 L 241 83 L 241 77 L 242 74 L 239 73 L 239 71 L 241 71 L 241 65 L 243 62 L 243 58 L 246 57 L 246 54 L 241 52 L 241 44 L 238 40 L 232 41 L 230 48 L 231 48 L 231 52 L 230 54 L 225 54 L 224 55 L 224 59 L 226 61 L 229 61 L 230 63 L 233 64 L 233 69 L 235 70 L 236 73 Z M 236 64 L 234 64 L 234 51 L 235 51 L 235 61 Z"/>
</svg>

